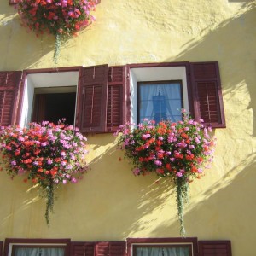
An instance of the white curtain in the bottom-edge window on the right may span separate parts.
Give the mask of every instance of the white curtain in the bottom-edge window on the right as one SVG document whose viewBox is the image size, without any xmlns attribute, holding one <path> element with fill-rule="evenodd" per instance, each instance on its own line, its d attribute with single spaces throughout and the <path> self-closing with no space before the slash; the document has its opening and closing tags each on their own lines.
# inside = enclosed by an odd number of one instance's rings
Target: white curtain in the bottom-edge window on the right
<svg viewBox="0 0 256 256">
<path fill-rule="evenodd" d="M 136 256 L 189 256 L 188 247 L 137 247 Z"/>
</svg>

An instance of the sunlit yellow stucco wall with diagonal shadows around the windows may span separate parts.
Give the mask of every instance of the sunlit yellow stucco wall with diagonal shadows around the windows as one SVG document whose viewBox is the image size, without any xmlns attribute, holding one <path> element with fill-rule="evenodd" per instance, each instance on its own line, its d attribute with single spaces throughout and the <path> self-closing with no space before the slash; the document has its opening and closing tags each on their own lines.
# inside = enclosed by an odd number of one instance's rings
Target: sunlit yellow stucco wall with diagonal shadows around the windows
<svg viewBox="0 0 256 256">
<path fill-rule="evenodd" d="M 54 40 L 20 26 L 0 1 L 0 71 L 55 67 Z M 242 0 L 102 0 L 96 22 L 61 48 L 58 67 L 163 61 L 219 61 L 225 129 L 215 160 L 191 184 L 187 236 L 230 239 L 234 256 L 254 256 L 256 232 L 256 7 Z M 0 241 L 6 237 L 121 241 L 179 236 L 167 181 L 134 177 L 112 135 L 88 137 L 90 171 L 58 193 L 51 224 L 36 189 L 0 172 Z"/>
</svg>

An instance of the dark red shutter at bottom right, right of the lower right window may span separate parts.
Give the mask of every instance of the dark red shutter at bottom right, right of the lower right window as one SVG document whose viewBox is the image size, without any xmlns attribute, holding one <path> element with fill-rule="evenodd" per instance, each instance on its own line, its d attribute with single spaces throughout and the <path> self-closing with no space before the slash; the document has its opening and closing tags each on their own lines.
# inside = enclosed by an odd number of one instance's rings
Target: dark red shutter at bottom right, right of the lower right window
<svg viewBox="0 0 256 256">
<path fill-rule="evenodd" d="M 198 241 L 199 256 L 232 256 L 230 241 Z"/>
</svg>

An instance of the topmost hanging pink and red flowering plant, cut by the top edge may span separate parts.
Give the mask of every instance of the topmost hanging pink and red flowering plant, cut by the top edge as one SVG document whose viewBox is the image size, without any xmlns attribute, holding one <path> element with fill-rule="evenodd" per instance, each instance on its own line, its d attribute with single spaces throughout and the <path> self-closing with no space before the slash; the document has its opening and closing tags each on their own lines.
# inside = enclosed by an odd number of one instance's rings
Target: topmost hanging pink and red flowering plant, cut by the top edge
<svg viewBox="0 0 256 256">
<path fill-rule="evenodd" d="M 96 0 L 15 0 L 21 22 L 37 35 L 55 37 L 54 61 L 58 61 L 61 43 L 95 20 L 91 11 Z"/>
</svg>

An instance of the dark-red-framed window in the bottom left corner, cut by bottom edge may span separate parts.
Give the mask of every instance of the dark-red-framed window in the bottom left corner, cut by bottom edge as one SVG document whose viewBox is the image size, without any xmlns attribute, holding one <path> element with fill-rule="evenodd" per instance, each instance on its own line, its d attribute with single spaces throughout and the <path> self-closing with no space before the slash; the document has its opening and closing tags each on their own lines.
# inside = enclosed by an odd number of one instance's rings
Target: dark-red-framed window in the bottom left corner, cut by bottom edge
<svg viewBox="0 0 256 256">
<path fill-rule="evenodd" d="M 5 240 L 7 256 L 67 256 L 69 239 L 11 239 Z"/>
</svg>

